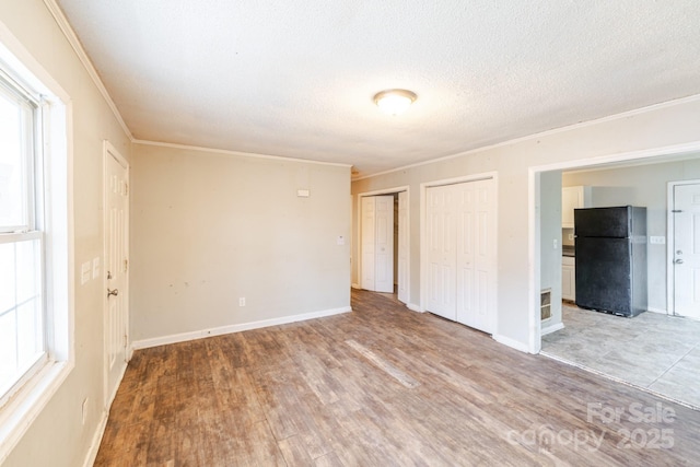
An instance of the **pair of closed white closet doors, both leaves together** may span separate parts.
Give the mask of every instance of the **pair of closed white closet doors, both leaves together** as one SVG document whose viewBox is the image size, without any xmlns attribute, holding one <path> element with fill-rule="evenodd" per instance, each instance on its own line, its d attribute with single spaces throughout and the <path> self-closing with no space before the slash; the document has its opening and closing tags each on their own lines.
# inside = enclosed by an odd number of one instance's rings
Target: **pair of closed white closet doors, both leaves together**
<svg viewBox="0 0 700 467">
<path fill-rule="evenodd" d="M 492 334 L 495 315 L 493 180 L 427 190 L 427 310 Z"/>
</svg>

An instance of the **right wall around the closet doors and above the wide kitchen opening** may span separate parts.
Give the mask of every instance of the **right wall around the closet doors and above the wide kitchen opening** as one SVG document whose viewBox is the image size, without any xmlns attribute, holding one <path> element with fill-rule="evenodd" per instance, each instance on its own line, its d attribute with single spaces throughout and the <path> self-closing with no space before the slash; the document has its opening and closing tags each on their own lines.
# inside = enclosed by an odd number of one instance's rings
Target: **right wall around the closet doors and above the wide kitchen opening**
<svg viewBox="0 0 700 467">
<path fill-rule="evenodd" d="M 534 351 L 539 343 L 534 336 L 539 320 L 530 319 L 535 291 L 530 292 L 530 167 L 565 168 L 564 161 L 581 164 L 607 161 L 616 154 L 639 152 L 648 155 L 654 149 L 697 143 L 700 140 L 700 98 L 697 96 L 673 104 L 628 113 L 557 131 L 537 135 L 432 163 L 357 180 L 352 192 L 359 194 L 394 186 L 410 186 L 411 196 L 411 296 L 420 303 L 420 184 L 486 172 L 498 173 L 498 331 L 497 338 L 521 349 Z M 651 151 L 650 151 L 651 150 Z M 597 157 L 597 159 L 596 159 Z M 535 170 L 535 168 L 533 168 Z M 533 197 L 534 198 L 534 197 Z M 355 197 L 357 201 L 357 197 Z M 533 211 L 530 211 L 533 210 Z M 532 226 L 538 229 L 539 226 Z M 355 242 L 353 256 L 358 257 Z M 532 245 L 534 245 L 534 240 Z M 353 265 L 357 269 L 357 261 Z M 357 270 L 353 269 L 353 278 Z M 539 269 L 532 282 L 538 290 Z M 357 282 L 357 281 L 355 281 Z M 538 305 L 537 305 L 538 306 Z M 537 342 L 537 343 L 536 343 Z"/>
</svg>

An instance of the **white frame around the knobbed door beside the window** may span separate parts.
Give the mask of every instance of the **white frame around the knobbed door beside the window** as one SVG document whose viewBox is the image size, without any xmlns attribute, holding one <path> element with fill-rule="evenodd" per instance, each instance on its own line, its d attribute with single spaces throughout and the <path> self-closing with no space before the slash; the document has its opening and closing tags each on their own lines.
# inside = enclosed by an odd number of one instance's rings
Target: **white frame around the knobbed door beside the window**
<svg viewBox="0 0 700 467">
<path fill-rule="evenodd" d="M 107 246 L 108 246 L 108 225 L 109 225 L 109 219 L 107 215 L 108 209 L 107 209 L 107 202 L 108 202 L 108 187 L 109 187 L 109 180 L 108 180 L 108 174 L 107 174 L 107 162 L 108 162 L 108 157 L 114 159 L 115 161 L 117 161 L 117 163 L 119 165 L 121 165 L 121 167 L 124 167 L 124 170 L 126 171 L 126 179 L 127 179 L 127 196 L 129 196 L 128 198 L 128 202 L 127 202 L 127 209 L 126 209 L 126 213 L 125 213 L 125 230 L 126 230 L 126 235 L 125 235 L 125 249 L 127 252 L 127 257 L 129 256 L 129 232 L 130 232 L 130 227 L 129 227 L 129 207 L 131 205 L 130 202 L 130 191 L 129 191 L 129 175 L 130 175 L 130 166 L 129 166 L 129 162 L 119 153 L 119 151 L 107 140 L 104 140 L 103 143 L 103 157 L 102 157 L 102 162 L 103 162 L 103 171 L 102 171 L 102 207 L 103 207 L 103 212 L 102 212 L 102 226 L 103 226 L 103 253 L 102 253 L 102 291 L 103 291 L 103 299 L 102 299 L 102 319 L 103 319 L 103 386 L 104 386 L 104 407 L 105 409 L 108 410 L 109 406 L 112 405 L 112 401 L 114 400 L 114 397 L 116 396 L 116 389 L 119 387 L 119 382 L 117 382 L 117 384 L 115 385 L 115 388 L 109 388 L 109 354 L 107 351 L 107 339 L 104 339 L 104 334 L 106 330 L 106 320 L 105 320 L 105 316 L 107 316 L 107 310 L 109 307 L 109 303 L 107 300 L 107 294 L 104 293 L 104 291 L 107 290 L 107 275 L 105 273 L 105 259 L 107 258 Z M 131 352 L 132 349 L 129 345 L 130 340 L 130 336 L 129 336 L 129 315 L 130 315 L 130 310 L 129 310 L 129 269 L 127 268 L 126 272 L 125 272 L 125 282 L 126 282 L 126 288 L 124 288 L 124 292 L 121 290 L 119 290 L 119 294 L 124 296 L 124 304 L 126 306 L 126 311 L 125 311 L 125 332 L 126 332 L 126 349 L 125 349 L 125 358 L 126 358 L 126 362 L 128 363 L 128 361 L 131 359 Z M 127 365 L 124 365 L 124 371 L 121 372 L 121 375 L 119 376 L 119 381 L 124 377 L 124 373 L 126 372 L 126 367 Z"/>
</svg>

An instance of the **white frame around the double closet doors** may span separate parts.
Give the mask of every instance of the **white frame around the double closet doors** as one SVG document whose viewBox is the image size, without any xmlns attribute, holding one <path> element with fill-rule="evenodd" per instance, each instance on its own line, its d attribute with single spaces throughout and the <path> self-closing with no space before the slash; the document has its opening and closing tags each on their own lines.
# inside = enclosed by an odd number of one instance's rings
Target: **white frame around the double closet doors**
<svg viewBox="0 0 700 467">
<path fill-rule="evenodd" d="M 428 188 L 434 188 L 439 186 L 445 185 L 457 185 L 469 182 L 479 182 L 479 180 L 493 180 L 493 231 L 498 236 L 499 232 L 499 174 L 498 172 L 482 172 L 480 174 L 465 175 L 460 177 L 454 178 L 443 178 L 440 180 L 425 182 L 420 184 L 420 305 L 419 311 L 425 312 L 425 306 L 428 300 Z M 495 252 L 493 255 L 493 332 L 492 336 L 498 335 L 499 329 L 499 294 L 498 294 L 498 283 L 499 283 L 499 245 L 498 238 L 495 241 Z"/>
</svg>

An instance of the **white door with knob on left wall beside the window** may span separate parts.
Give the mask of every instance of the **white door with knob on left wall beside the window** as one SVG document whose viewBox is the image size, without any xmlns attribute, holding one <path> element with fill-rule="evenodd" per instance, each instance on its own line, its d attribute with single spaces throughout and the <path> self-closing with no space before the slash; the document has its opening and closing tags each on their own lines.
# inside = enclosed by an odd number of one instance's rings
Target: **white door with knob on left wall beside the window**
<svg viewBox="0 0 700 467">
<path fill-rule="evenodd" d="M 127 365 L 128 329 L 128 207 L 126 161 L 106 144 L 105 150 L 105 405 L 114 399 Z"/>
</svg>

